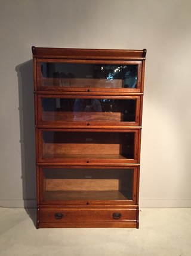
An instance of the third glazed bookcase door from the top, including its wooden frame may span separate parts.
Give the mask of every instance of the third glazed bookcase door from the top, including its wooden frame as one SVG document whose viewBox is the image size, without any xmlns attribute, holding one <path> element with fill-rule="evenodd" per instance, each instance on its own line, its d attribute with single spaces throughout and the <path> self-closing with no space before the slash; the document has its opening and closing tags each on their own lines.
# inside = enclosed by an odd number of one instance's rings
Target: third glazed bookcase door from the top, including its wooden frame
<svg viewBox="0 0 191 256">
<path fill-rule="evenodd" d="M 41 162 L 137 162 L 138 129 L 86 131 L 39 129 Z"/>
</svg>

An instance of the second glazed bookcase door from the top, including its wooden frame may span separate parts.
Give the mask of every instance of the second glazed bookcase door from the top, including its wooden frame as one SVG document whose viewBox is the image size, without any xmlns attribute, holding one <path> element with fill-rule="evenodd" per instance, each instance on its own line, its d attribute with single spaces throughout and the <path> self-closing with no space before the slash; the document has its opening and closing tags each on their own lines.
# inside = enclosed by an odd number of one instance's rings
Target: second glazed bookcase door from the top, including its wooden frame
<svg viewBox="0 0 191 256">
<path fill-rule="evenodd" d="M 40 125 L 138 125 L 140 97 L 38 95 Z"/>
</svg>

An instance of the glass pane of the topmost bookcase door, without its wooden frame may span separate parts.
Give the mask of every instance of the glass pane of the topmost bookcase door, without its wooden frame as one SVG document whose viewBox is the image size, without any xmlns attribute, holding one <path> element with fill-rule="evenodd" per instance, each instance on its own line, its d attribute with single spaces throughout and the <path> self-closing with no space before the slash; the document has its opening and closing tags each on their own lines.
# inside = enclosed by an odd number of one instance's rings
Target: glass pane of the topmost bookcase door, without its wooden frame
<svg viewBox="0 0 191 256">
<path fill-rule="evenodd" d="M 41 62 L 41 86 L 137 88 L 138 65 Z"/>
</svg>

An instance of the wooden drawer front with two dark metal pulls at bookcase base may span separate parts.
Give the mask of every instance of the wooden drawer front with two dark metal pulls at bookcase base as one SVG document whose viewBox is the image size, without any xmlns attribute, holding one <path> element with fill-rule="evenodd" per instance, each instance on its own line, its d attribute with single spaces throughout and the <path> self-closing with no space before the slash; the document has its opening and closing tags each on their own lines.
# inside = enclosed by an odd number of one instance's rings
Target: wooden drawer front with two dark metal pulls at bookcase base
<svg viewBox="0 0 191 256">
<path fill-rule="evenodd" d="M 124 208 L 42 208 L 40 222 L 136 222 L 138 209 Z"/>
</svg>

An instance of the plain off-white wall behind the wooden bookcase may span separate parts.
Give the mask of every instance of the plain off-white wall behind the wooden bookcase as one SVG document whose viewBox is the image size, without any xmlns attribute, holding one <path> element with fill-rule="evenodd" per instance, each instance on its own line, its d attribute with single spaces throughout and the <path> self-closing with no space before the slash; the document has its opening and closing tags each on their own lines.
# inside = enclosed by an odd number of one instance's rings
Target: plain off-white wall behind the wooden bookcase
<svg viewBox="0 0 191 256">
<path fill-rule="evenodd" d="M 191 207 L 191 1 L 0 4 L 0 206 L 35 206 L 34 45 L 147 49 L 140 206 Z"/>
</svg>

